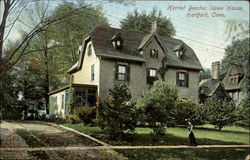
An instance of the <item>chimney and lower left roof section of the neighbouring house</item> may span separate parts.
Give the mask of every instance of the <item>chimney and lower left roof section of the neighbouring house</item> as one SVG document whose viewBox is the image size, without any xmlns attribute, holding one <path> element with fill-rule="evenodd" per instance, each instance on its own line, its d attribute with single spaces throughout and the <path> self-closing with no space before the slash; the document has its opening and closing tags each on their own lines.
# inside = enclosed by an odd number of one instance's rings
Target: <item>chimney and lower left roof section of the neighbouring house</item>
<svg viewBox="0 0 250 160">
<path fill-rule="evenodd" d="M 213 62 L 211 68 L 211 78 L 203 79 L 199 83 L 200 103 L 205 103 L 206 99 L 211 96 L 216 96 L 221 100 L 230 100 L 231 96 L 220 79 L 220 62 Z"/>
</svg>

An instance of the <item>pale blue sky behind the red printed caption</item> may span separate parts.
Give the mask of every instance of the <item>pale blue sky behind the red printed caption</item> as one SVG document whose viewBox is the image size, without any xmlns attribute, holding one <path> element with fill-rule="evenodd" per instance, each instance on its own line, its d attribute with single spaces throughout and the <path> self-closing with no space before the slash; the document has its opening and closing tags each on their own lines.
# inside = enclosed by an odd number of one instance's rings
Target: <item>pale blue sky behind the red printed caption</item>
<svg viewBox="0 0 250 160">
<path fill-rule="evenodd" d="M 51 1 L 54 3 L 56 1 Z M 249 21 L 249 2 L 247 1 L 134 1 L 127 5 L 108 1 L 91 1 L 103 8 L 104 16 L 112 27 L 120 28 L 120 21 L 128 12 L 150 12 L 158 8 L 169 18 L 176 29 L 174 38 L 181 39 L 196 53 L 204 68 L 220 61 L 225 48 L 231 43 L 226 40 L 226 21 L 235 19 Z M 54 3 L 56 6 L 58 4 Z M 53 5 L 52 5 L 53 6 Z M 0 8 L 1 9 L 1 8 Z M 16 25 L 8 40 L 19 37 Z M 80 44 L 79 44 L 80 45 Z"/>
</svg>

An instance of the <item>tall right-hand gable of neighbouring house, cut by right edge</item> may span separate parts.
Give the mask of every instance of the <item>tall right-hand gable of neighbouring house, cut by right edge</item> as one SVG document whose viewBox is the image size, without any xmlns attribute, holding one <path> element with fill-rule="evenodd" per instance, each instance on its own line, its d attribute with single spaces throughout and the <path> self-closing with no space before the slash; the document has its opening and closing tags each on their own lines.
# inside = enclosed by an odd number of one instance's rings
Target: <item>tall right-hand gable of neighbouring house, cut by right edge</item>
<svg viewBox="0 0 250 160">
<path fill-rule="evenodd" d="M 240 104 L 241 100 L 247 97 L 248 69 L 247 62 L 243 64 L 232 63 L 222 80 L 225 90 L 236 104 Z"/>
</svg>

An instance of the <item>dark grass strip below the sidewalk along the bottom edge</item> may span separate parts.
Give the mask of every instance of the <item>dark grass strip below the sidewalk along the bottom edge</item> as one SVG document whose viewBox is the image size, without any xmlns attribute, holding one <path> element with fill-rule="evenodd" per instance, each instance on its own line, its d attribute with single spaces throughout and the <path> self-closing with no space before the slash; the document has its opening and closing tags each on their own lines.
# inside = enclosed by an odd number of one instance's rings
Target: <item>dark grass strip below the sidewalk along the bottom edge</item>
<svg viewBox="0 0 250 160">
<path fill-rule="evenodd" d="M 129 160 L 243 160 L 249 148 L 125 149 L 116 150 Z M 143 157 L 143 158 L 142 158 Z"/>
</svg>

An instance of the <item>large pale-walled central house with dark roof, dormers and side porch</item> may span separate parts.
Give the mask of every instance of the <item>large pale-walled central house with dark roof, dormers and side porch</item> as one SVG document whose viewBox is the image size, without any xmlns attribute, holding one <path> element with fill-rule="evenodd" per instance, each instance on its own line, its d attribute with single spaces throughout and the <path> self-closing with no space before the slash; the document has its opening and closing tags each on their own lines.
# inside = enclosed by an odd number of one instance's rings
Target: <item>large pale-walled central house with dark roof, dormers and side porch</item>
<svg viewBox="0 0 250 160">
<path fill-rule="evenodd" d="M 197 56 L 183 41 L 160 35 L 155 22 L 149 34 L 98 26 L 81 48 L 78 62 L 68 71 L 71 83 L 50 93 L 51 114 L 68 114 L 73 97 L 80 106 L 95 106 L 116 82 L 127 83 L 135 100 L 160 74 L 177 86 L 181 97 L 199 99 L 202 66 Z"/>
</svg>

